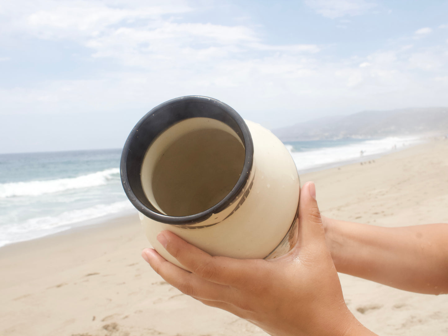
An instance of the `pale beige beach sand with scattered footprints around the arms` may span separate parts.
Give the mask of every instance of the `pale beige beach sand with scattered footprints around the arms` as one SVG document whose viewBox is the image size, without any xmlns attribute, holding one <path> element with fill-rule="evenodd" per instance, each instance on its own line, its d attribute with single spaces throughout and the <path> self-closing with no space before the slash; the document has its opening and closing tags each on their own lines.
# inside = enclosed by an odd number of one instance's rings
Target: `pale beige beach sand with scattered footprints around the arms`
<svg viewBox="0 0 448 336">
<path fill-rule="evenodd" d="M 404 226 L 448 223 L 448 140 L 301 176 L 324 215 Z M 267 335 L 166 284 L 140 257 L 138 216 L 0 248 L 0 335 Z M 340 274 L 353 314 L 379 335 L 447 335 L 448 296 Z"/>
</svg>

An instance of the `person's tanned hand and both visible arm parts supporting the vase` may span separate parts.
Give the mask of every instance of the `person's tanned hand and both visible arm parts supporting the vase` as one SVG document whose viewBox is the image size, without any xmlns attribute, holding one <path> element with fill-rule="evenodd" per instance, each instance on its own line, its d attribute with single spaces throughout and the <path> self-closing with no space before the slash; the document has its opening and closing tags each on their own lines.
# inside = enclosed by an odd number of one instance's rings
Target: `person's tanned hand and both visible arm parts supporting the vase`
<svg viewBox="0 0 448 336">
<path fill-rule="evenodd" d="M 173 233 L 157 237 L 190 272 L 145 249 L 143 258 L 182 293 L 270 335 L 375 335 L 347 308 L 337 271 L 417 293 L 448 293 L 448 224 L 398 228 L 320 215 L 302 187 L 296 246 L 272 260 L 211 257 Z"/>
</svg>

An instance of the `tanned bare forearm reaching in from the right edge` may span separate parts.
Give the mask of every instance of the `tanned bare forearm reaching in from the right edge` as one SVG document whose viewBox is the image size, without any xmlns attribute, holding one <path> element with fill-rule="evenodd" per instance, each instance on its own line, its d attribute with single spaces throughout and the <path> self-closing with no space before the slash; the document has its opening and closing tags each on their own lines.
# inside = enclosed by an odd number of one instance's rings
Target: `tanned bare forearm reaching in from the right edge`
<svg viewBox="0 0 448 336">
<path fill-rule="evenodd" d="M 448 224 L 324 222 L 337 271 L 412 292 L 448 293 Z"/>
</svg>

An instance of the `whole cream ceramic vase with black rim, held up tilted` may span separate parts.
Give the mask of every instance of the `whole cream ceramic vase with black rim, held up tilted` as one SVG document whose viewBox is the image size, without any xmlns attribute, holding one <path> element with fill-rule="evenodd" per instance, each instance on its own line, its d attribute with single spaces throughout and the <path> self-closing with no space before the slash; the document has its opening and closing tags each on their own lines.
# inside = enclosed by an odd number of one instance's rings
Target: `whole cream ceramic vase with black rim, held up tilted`
<svg viewBox="0 0 448 336">
<path fill-rule="evenodd" d="M 211 255 L 276 258 L 297 240 L 300 181 L 269 130 L 219 100 L 169 100 L 135 125 L 121 155 L 121 181 L 151 245 L 176 233 Z"/>
</svg>

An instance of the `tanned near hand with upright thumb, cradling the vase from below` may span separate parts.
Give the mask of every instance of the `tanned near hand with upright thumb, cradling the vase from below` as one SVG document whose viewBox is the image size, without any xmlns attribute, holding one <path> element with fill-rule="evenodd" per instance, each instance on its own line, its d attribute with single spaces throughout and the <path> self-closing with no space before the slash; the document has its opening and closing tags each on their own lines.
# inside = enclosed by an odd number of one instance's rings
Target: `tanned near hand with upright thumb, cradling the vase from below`
<svg viewBox="0 0 448 336">
<path fill-rule="evenodd" d="M 190 271 L 153 249 L 143 250 L 143 258 L 168 283 L 271 335 L 372 335 L 345 305 L 312 182 L 301 191 L 297 244 L 279 258 L 212 257 L 168 231 L 157 239 Z"/>
</svg>

